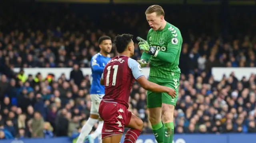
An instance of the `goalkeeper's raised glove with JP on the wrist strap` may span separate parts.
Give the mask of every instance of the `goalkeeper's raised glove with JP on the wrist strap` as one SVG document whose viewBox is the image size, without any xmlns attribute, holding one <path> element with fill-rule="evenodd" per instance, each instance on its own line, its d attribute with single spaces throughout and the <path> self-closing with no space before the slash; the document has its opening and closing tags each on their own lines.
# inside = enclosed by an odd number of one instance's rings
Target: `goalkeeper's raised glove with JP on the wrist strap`
<svg viewBox="0 0 256 143">
<path fill-rule="evenodd" d="M 156 50 L 155 47 L 150 47 L 150 45 L 148 44 L 148 42 L 144 39 L 142 39 L 141 37 L 137 37 L 137 40 L 140 41 L 138 43 L 138 46 L 140 48 L 140 50 L 145 51 L 146 53 L 156 57 L 158 51 Z"/>
</svg>

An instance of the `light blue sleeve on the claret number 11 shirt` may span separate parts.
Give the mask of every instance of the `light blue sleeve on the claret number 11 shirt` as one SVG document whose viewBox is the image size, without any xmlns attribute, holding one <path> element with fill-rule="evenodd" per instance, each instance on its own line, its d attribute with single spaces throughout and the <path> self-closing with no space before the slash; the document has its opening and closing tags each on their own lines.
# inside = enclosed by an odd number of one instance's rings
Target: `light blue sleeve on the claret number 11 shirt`
<svg viewBox="0 0 256 143">
<path fill-rule="evenodd" d="M 128 59 L 128 66 L 132 70 L 132 74 L 136 80 L 144 76 L 144 74 L 142 73 L 140 64 L 134 59 L 131 59 L 131 58 Z"/>
</svg>

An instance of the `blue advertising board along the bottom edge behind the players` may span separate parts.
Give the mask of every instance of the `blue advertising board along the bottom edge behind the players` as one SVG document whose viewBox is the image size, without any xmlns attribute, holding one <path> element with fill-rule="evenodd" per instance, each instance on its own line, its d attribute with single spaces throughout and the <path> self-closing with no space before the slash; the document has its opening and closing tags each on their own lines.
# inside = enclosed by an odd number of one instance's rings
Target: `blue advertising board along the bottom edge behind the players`
<svg viewBox="0 0 256 143">
<path fill-rule="evenodd" d="M 183 134 L 174 135 L 172 143 L 255 143 L 256 134 Z M 121 139 L 121 143 L 124 137 Z M 69 137 L 54 137 L 47 139 L 6 139 L 1 140 L 0 143 L 72 143 Z M 95 139 L 98 143 L 98 139 Z M 157 143 L 154 135 L 140 135 L 136 143 Z"/>
</svg>

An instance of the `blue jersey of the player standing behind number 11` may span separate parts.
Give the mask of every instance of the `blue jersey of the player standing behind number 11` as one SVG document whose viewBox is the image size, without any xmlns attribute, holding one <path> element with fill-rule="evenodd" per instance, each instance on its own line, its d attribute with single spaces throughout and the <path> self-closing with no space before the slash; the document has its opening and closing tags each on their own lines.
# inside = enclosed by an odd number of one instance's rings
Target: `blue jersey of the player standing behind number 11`
<svg viewBox="0 0 256 143">
<path fill-rule="evenodd" d="M 97 53 L 92 57 L 91 60 L 91 90 L 90 94 L 105 94 L 105 86 L 100 85 L 100 78 L 103 73 L 105 66 L 108 61 L 110 61 L 110 57 L 105 57 L 100 53 Z"/>
</svg>

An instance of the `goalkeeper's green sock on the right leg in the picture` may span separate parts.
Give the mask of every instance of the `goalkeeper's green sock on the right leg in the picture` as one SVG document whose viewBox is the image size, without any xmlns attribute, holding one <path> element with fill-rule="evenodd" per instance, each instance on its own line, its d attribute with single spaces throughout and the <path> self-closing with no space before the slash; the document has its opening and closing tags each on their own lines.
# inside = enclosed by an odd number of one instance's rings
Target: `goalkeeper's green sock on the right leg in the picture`
<svg viewBox="0 0 256 143">
<path fill-rule="evenodd" d="M 164 143 L 172 143 L 174 135 L 173 122 L 164 123 Z"/>
</svg>

